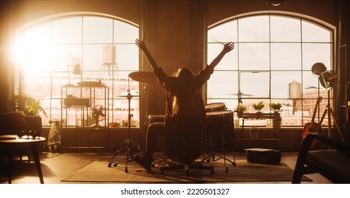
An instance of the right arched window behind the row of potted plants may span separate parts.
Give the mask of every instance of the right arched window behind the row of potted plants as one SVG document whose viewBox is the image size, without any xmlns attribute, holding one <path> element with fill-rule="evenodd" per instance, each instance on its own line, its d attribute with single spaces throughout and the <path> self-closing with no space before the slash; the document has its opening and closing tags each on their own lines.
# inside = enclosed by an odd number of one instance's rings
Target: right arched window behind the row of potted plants
<svg viewBox="0 0 350 198">
<path fill-rule="evenodd" d="M 235 42 L 235 50 L 209 79 L 207 103 L 225 103 L 236 110 L 237 94 L 243 93 L 240 105 L 248 112 L 255 112 L 253 103 L 263 101 L 263 112 L 270 112 L 269 103 L 280 103 L 283 125 L 310 122 L 317 98 L 324 98 L 321 107 L 327 104 L 327 91 L 311 69 L 317 62 L 333 69 L 333 34 L 332 28 L 318 23 L 273 14 L 234 18 L 210 27 L 208 60 L 214 59 L 222 43 Z M 328 124 L 327 117 L 323 123 Z"/>
</svg>

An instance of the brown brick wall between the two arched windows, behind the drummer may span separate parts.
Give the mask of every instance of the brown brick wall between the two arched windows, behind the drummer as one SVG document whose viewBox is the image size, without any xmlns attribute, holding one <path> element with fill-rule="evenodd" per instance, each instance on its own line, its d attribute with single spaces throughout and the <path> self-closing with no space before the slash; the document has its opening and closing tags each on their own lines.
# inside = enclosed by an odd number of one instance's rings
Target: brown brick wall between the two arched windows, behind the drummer
<svg viewBox="0 0 350 198">
<path fill-rule="evenodd" d="M 191 62 L 191 1 L 158 0 L 155 17 L 155 51 L 158 66 L 172 75 L 180 66 Z M 154 47 L 154 46 L 153 46 Z M 165 93 L 160 85 L 150 85 L 148 115 L 164 114 Z"/>
</svg>

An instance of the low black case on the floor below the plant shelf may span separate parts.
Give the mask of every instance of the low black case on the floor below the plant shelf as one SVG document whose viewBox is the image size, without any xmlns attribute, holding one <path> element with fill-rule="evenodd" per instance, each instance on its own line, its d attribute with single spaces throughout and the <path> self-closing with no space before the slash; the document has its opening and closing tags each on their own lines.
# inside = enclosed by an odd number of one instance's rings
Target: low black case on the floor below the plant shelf
<svg viewBox="0 0 350 198">
<path fill-rule="evenodd" d="M 246 148 L 247 161 L 250 163 L 278 164 L 280 151 L 267 148 Z"/>
</svg>

